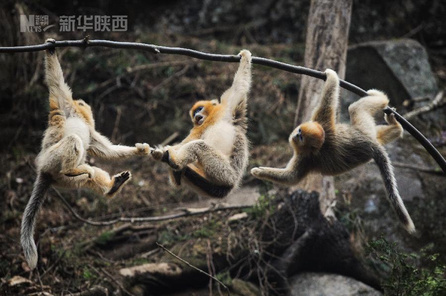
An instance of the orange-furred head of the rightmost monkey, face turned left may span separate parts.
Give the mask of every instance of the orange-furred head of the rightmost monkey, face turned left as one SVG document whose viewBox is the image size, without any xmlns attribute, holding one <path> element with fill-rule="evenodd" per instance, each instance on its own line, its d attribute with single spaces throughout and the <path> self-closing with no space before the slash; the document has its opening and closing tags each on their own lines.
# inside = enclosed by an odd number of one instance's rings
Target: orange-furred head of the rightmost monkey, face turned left
<svg viewBox="0 0 446 296">
<path fill-rule="evenodd" d="M 301 152 L 316 152 L 324 141 L 324 128 L 316 121 L 302 123 L 289 136 L 289 143 Z"/>
</svg>

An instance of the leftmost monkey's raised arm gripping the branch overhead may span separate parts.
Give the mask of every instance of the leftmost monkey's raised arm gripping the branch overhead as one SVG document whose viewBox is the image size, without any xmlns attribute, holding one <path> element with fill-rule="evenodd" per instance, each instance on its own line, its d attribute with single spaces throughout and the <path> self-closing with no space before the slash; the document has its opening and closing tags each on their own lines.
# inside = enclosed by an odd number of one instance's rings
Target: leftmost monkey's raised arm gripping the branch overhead
<svg viewBox="0 0 446 296">
<path fill-rule="evenodd" d="M 55 42 L 47 39 L 46 42 Z M 71 90 L 63 79 L 55 49 L 48 49 L 45 57 L 45 82 L 50 92 L 50 109 L 61 109 L 69 115 L 73 106 Z"/>
</svg>

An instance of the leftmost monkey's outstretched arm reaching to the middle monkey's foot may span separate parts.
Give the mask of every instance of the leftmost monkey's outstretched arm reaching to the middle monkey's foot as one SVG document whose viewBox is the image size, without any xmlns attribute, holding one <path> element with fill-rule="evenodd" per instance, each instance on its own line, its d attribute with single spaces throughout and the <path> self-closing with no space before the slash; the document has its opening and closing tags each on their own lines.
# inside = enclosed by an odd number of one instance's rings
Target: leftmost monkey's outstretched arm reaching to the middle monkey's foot
<svg viewBox="0 0 446 296">
<path fill-rule="evenodd" d="M 112 160 L 134 155 L 149 155 L 150 147 L 146 143 L 137 143 L 135 147 L 113 145 L 107 137 L 93 131 L 88 152 L 96 157 Z"/>
</svg>

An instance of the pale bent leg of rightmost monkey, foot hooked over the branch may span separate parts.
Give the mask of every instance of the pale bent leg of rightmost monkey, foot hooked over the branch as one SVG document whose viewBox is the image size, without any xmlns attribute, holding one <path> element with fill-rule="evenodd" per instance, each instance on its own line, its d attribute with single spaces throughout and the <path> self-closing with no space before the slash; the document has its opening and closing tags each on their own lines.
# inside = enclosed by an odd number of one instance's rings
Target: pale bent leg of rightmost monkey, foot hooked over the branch
<svg viewBox="0 0 446 296">
<path fill-rule="evenodd" d="M 367 93 L 369 96 L 361 98 L 348 106 L 348 113 L 352 125 L 364 134 L 376 139 L 377 131 L 374 115 L 389 104 L 389 99 L 384 93 L 377 90 L 370 90 Z"/>
</svg>

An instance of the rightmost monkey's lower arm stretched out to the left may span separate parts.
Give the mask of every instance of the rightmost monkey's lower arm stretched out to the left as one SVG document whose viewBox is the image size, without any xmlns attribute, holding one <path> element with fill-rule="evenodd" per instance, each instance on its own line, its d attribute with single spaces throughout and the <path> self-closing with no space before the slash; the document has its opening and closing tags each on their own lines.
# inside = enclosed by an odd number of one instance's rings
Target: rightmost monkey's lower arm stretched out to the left
<svg viewBox="0 0 446 296">
<path fill-rule="evenodd" d="M 283 185 L 295 185 L 302 178 L 299 171 L 293 171 L 290 168 L 273 168 L 273 167 L 255 167 L 251 170 L 251 174 L 258 179 L 267 180 Z"/>
</svg>

